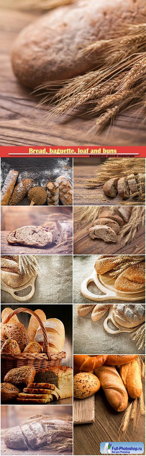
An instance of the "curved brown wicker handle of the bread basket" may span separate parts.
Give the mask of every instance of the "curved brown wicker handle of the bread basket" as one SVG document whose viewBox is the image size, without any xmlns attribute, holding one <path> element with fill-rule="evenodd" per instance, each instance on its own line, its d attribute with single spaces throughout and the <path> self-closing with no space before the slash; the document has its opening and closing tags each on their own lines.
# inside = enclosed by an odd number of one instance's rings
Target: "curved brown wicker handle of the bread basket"
<svg viewBox="0 0 146 456">
<path fill-rule="evenodd" d="M 46 332 L 45 326 L 43 325 L 42 321 L 40 320 L 40 317 L 37 316 L 34 311 L 31 311 L 31 309 L 25 309 L 25 307 L 19 307 L 18 309 L 15 309 L 15 311 L 11 312 L 5 318 L 5 321 L 3 321 L 3 325 L 8 323 L 10 318 L 12 318 L 12 316 L 14 316 L 14 315 L 16 315 L 17 313 L 20 313 L 20 312 L 30 313 L 30 315 L 33 315 L 36 318 L 36 320 L 38 321 L 38 323 L 39 323 L 39 325 L 41 327 L 42 333 L 43 333 L 43 338 L 44 338 L 43 351 L 46 353 L 49 361 L 51 361 L 50 347 L 48 345 L 48 336 L 47 336 L 47 332 Z"/>
</svg>

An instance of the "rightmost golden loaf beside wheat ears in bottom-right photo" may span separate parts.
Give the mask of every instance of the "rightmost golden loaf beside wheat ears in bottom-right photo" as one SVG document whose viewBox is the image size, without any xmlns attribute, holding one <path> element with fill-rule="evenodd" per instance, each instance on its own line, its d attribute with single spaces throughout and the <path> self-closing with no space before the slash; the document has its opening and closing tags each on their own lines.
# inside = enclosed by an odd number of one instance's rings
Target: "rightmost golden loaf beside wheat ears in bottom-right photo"
<svg viewBox="0 0 146 456">
<path fill-rule="evenodd" d="M 127 393 L 132 399 L 139 398 L 142 393 L 142 383 L 137 359 L 133 359 L 131 363 L 123 364 L 119 368 Z"/>
</svg>

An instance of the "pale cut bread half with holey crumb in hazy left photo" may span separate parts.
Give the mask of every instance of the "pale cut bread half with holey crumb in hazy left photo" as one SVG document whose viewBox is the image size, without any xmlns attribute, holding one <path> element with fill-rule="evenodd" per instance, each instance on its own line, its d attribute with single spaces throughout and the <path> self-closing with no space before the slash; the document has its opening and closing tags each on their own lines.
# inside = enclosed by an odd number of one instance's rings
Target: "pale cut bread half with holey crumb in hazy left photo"
<svg viewBox="0 0 146 456">
<path fill-rule="evenodd" d="M 52 242 L 52 236 L 50 238 L 50 242 Z M 45 247 L 49 243 L 48 235 L 40 228 L 31 225 L 11 231 L 7 235 L 7 241 L 9 244 L 34 245 L 36 247 Z"/>
</svg>

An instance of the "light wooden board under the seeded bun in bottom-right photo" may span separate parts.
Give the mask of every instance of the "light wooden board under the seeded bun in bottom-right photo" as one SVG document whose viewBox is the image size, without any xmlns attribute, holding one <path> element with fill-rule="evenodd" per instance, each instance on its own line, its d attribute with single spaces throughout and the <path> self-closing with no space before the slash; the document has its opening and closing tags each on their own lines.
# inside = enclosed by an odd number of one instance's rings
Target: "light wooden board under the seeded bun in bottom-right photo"
<svg viewBox="0 0 146 456">
<path fill-rule="evenodd" d="M 86 399 L 74 398 L 74 425 L 94 423 L 94 395 Z"/>
</svg>

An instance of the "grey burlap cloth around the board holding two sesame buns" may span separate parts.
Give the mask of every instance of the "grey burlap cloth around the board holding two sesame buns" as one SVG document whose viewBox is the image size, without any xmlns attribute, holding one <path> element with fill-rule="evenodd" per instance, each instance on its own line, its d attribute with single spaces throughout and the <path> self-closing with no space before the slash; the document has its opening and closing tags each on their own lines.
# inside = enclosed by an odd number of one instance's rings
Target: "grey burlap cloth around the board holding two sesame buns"
<svg viewBox="0 0 146 456">
<path fill-rule="evenodd" d="M 87 298 L 85 298 L 81 294 L 81 283 L 84 279 L 89 277 L 94 269 L 94 265 L 96 262 L 96 259 L 98 258 L 99 255 L 75 255 L 74 256 L 74 303 L 78 304 L 95 304 L 95 301 L 91 301 Z M 91 293 L 95 293 L 96 295 L 104 295 L 104 293 L 96 287 L 95 284 L 92 282 L 88 285 L 88 290 L 91 291 Z M 105 302 L 105 304 L 114 304 L 114 300 L 108 300 L 108 301 L 101 301 Z M 145 300 L 138 301 L 139 303 L 144 303 Z M 98 301 L 100 303 L 100 301 Z M 116 300 L 115 303 L 126 303 L 126 301 Z M 135 301 L 130 301 L 130 303 L 135 304 Z"/>
</svg>

